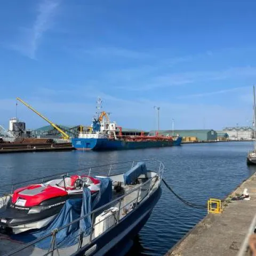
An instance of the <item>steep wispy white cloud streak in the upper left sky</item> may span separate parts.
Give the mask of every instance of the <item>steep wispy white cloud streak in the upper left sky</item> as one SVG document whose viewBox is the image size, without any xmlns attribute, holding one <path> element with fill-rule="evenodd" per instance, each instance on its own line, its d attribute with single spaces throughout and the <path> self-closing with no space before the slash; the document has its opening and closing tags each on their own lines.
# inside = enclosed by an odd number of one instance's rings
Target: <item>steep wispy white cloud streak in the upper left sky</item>
<svg viewBox="0 0 256 256">
<path fill-rule="evenodd" d="M 35 22 L 30 28 L 20 28 L 21 35 L 18 43 L 13 44 L 13 50 L 19 51 L 30 59 L 36 58 L 36 51 L 43 34 L 51 27 L 51 22 L 60 0 L 43 0 L 37 6 Z"/>
</svg>

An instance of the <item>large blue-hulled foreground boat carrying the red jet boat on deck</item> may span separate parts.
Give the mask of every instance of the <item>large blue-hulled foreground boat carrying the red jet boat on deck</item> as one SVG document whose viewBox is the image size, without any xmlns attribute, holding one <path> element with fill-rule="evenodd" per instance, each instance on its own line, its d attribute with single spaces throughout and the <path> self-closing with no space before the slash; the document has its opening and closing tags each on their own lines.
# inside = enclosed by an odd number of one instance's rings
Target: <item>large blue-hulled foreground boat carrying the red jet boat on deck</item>
<svg viewBox="0 0 256 256">
<path fill-rule="evenodd" d="M 124 245 L 131 245 L 161 197 L 164 165 L 150 159 L 87 170 L 101 181 L 97 196 L 84 186 L 83 197 L 68 199 L 43 229 L 2 235 L 1 252 L 6 256 L 125 255 L 129 248 Z M 92 175 L 99 171 L 108 175 Z"/>
</svg>

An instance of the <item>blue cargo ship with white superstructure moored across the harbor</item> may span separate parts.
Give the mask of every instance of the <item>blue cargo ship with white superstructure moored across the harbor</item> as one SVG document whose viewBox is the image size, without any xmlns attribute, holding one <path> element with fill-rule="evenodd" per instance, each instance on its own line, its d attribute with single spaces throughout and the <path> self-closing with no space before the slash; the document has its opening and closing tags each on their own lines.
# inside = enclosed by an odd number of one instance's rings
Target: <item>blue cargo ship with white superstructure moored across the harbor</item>
<svg viewBox="0 0 256 256">
<path fill-rule="evenodd" d="M 101 99 L 97 100 L 98 110 L 101 109 Z M 182 137 L 177 134 L 175 138 L 171 136 L 145 135 L 123 135 L 122 127 L 116 122 L 110 122 L 109 115 L 105 111 L 97 111 L 93 117 L 91 127 L 81 130 L 78 138 L 72 139 L 72 146 L 80 150 L 122 150 L 141 149 L 153 147 L 180 146 Z"/>
</svg>

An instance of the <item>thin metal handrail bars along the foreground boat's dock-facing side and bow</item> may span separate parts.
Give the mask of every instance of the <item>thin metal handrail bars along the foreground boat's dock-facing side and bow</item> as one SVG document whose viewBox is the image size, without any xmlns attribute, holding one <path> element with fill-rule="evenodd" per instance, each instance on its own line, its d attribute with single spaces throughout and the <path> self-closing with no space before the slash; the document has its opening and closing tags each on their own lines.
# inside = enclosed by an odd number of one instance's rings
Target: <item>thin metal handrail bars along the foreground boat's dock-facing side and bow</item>
<svg viewBox="0 0 256 256">
<path fill-rule="evenodd" d="M 130 194 L 133 193 L 134 191 L 141 189 L 141 187 L 147 185 L 147 184 L 150 182 L 150 185 L 149 185 L 149 187 L 148 187 L 148 189 L 147 189 L 147 190 L 149 190 L 149 193 L 146 193 L 146 196 L 143 197 L 143 198 L 141 199 L 141 201 L 142 201 L 143 199 L 145 199 L 146 197 L 149 197 L 149 196 L 150 196 L 150 190 L 152 190 L 153 187 L 154 187 L 154 186 L 151 186 L 152 180 L 155 179 L 155 178 L 157 178 L 157 176 L 159 177 L 160 180 L 162 180 L 162 178 L 163 178 L 164 164 L 163 164 L 161 161 L 158 161 L 157 159 L 143 159 L 143 160 L 130 161 L 130 162 L 133 162 L 133 163 L 134 163 L 134 162 L 140 162 L 140 161 L 154 161 L 154 162 L 156 161 L 156 162 L 158 162 L 158 163 L 159 163 L 159 170 L 158 170 L 158 172 L 155 172 L 155 173 L 157 173 L 157 175 L 155 175 L 154 177 L 150 177 L 145 183 L 142 183 L 141 185 L 137 186 L 136 188 L 130 190 L 128 193 L 125 193 L 124 195 L 122 195 L 122 196 L 120 196 L 120 197 L 117 197 L 117 198 L 114 199 L 113 201 L 111 201 L 111 202 L 109 202 L 109 203 L 107 203 L 107 204 L 105 204 L 105 205 L 102 205 L 101 207 L 99 207 L 99 208 L 97 208 L 97 209 L 91 211 L 90 213 L 87 213 L 87 214 L 83 215 L 82 217 L 79 217 L 79 218 L 77 218 L 76 220 L 71 221 L 71 222 L 69 222 L 68 224 L 66 224 L 66 225 L 64 225 L 64 226 L 62 226 L 62 227 L 60 227 L 60 228 L 58 228 L 57 231 L 59 232 L 59 231 L 65 229 L 65 228 L 69 227 L 70 225 L 73 225 L 74 223 L 76 223 L 76 222 L 78 222 L 78 221 L 80 221 L 80 220 L 82 220 L 82 219 L 85 219 L 86 217 L 89 217 L 89 215 L 90 215 L 90 217 L 91 217 L 91 216 L 94 216 L 94 213 L 99 212 L 99 211 L 105 209 L 107 206 L 113 205 L 113 203 L 115 203 L 115 202 L 118 202 L 118 201 L 121 202 L 122 199 L 125 198 L 127 195 L 130 195 Z M 126 162 L 126 163 L 129 163 L 129 162 Z M 118 164 L 118 163 L 116 163 L 116 164 Z M 98 166 L 96 166 L 96 167 L 98 167 Z M 161 177 L 161 173 L 162 173 L 162 177 Z M 159 183 L 159 185 L 160 185 L 160 183 Z M 137 197 L 139 197 L 139 193 L 137 194 Z M 137 208 L 137 204 L 138 204 L 138 198 L 137 198 L 137 197 L 134 198 L 134 199 L 131 201 L 131 202 L 133 202 L 133 201 L 134 201 L 134 202 L 137 202 L 137 203 L 135 204 L 135 208 L 134 208 L 134 209 Z M 129 202 L 128 204 L 130 204 L 131 202 Z M 125 205 L 121 208 L 121 203 L 119 203 L 119 210 L 118 210 L 118 213 L 120 214 L 121 209 L 123 209 L 123 208 L 124 208 L 126 205 L 128 205 L 128 204 L 125 204 Z M 118 219 L 119 219 L 119 216 L 118 216 Z M 101 222 L 101 221 L 100 221 L 100 222 Z M 95 226 L 95 225 L 97 225 L 97 224 L 100 223 L 100 222 L 92 223 L 92 227 Z M 90 227 L 90 228 L 92 228 L 92 227 Z M 111 228 L 111 227 L 110 227 L 110 228 Z M 86 230 L 87 230 L 87 229 L 86 229 Z M 109 229 L 107 229 L 107 230 L 109 230 Z M 106 230 L 106 231 L 107 231 L 107 230 Z M 25 245 L 19 247 L 18 249 L 15 249 L 14 251 L 5 254 L 5 256 L 10 256 L 10 255 L 13 255 L 13 254 L 15 254 L 15 253 L 17 253 L 17 252 L 20 252 L 20 251 L 22 251 L 22 250 L 28 248 L 29 246 L 33 246 L 34 244 L 36 244 L 36 243 L 42 241 L 43 239 L 45 239 L 45 238 L 47 238 L 47 237 L 50 237 L 50 236 L 53 237 L 53 236 L 55 236 L 56 233 L 55 233 L 54 231 L 55 231 L 55 230 L 52 230 L 49 234 L 46 234 L 46 235 L 44 235 L 43 237 L 37 238 L 37 239 L 36 239 L 35 241 L 33 241 L 33 242 L 30 242 L 30 243 L 28 243 L 28 244 L 25 244 Z M 105 233 L 106 231 L 104 231 L 103 233 Z M 102 233 L 102 234 L 103 234 L 103 233 Z M 97 238 L 98 238 L 98 237 L 96 237 L 96 238 L 94 238 L 94 239 L 97 239 Z M 91 242 L 94 241 L 94 239 L 90 239 L 89 244 L 91 244 Z M 51 246 L 51 245 L 50 245 L 50 246 Z M 58 249 L 58 248 L 57 248 L 57 249 Z M 52 251 L 54 251 L 54 250 L 55 250 L 55 249 L 53 248 Z M 51 251 L 51 250 L 49 250 L 49 251 Z M 49 254 L 49 252 L 48 252 L 47 254 Z M 46 254 L 46 255 L 47 255 L 47 254 Z"/>
</svg>

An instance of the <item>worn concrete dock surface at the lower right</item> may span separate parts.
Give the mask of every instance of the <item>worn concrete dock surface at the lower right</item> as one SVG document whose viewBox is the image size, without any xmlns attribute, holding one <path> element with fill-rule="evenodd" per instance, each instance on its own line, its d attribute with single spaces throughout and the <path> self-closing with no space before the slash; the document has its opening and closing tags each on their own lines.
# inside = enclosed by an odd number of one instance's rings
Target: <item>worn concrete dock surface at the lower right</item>
<svg viewBox="0 0 256 256">
<path fill-rule="evenodd" d="M 207 214 L 166 255 L 236 255 L 256 214 L 255 173 L 230 196 L 243 194 L 244 188 L 249 190 L 250 201 L 231 201 L 221 214 Z"/>
</svg>

